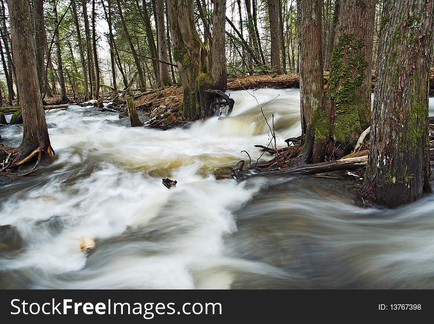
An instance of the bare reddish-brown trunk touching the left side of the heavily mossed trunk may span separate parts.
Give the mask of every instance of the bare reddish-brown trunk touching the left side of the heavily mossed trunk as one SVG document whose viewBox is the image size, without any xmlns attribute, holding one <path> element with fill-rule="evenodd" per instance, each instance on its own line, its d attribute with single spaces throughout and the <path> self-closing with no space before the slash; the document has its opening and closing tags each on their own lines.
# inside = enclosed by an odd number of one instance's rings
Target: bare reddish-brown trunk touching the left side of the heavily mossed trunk
<svg viewBox="0 0 434 324">
<path fill-rule="evenodd" d="M 324 152 L 321 143 L 328 135 L 318 122 L 326 115 L 323 108 L 322 0 L 299 0 L 298 37 L 300 67 L 300 112 L 304 163 L 317 163 Z M 325 135 L 323 133 L 326 133 Z"/>
</svg>

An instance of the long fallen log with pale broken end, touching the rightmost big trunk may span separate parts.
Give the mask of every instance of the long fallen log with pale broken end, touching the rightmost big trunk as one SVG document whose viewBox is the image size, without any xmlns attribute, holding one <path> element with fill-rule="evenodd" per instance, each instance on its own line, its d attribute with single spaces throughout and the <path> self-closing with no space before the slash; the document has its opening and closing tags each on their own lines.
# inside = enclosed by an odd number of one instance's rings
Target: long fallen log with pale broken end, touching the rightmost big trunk
<svg viewBox="0 0 434 324">
<path fill-rule="evenodd" d="M 275 174 L 312 175 L 312 174 L 325 173 L 330 171 L 355 170 L 355 169 L 364 168 L 366 166 L 367 160 L 368 160 L 367 156 L 351 157 L 347 159 L 340 159 L 340 160 L 329 161 L 329 162 L 305 164 L 297 167 L 266 171 L 266 172 L 249 175 L 249 176 L 244 176 L 239 179 L 243 180 L 254 176 L 262 176 L 262 175 L 275 175 Z"/>
</svg>

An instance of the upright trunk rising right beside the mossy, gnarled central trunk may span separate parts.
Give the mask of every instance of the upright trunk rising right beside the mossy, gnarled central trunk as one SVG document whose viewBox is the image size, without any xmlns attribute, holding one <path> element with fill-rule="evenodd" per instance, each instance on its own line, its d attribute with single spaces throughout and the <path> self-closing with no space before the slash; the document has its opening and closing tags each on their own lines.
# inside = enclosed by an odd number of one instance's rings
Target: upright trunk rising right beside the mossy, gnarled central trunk
<svg viewBox="0 0 434 324">
<path fill-rule="evenodd" d="M 211 78 L 214 89 L 226 90 L 226 0 L 214 0 Z"/>
</svg>

